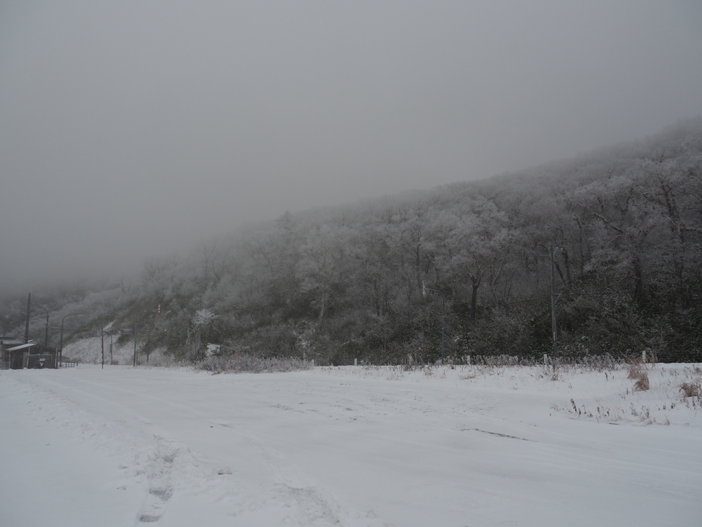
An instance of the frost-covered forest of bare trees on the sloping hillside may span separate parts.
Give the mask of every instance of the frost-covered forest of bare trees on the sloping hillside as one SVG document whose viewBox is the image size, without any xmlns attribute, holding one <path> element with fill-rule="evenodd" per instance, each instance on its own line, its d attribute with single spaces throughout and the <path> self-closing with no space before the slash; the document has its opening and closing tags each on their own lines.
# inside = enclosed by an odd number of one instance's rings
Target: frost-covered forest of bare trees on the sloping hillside
<svg viewBox="0 0 702 527">
<path fill-rule="evenodd" d="M 177 360 L 220 344 L 224 356 L 430 362 L 445 309 L 451 360 L 536 358 L 552 347 L 553 248 L 559 354 L 699 361 L 701 242 L 698 117 L 516 174 L 286 212 L 104 290 L 32 292 L 45 311 L 32 309 L 30 334 L 44 341 L 48 310 L 52 328 L 83 313 L 66 339 L 138 317 L 140 352 L 150 329 L 152 349 Z M 25 307 L 4 301 L 4 334 L 23 333 Z"/>
</svg>

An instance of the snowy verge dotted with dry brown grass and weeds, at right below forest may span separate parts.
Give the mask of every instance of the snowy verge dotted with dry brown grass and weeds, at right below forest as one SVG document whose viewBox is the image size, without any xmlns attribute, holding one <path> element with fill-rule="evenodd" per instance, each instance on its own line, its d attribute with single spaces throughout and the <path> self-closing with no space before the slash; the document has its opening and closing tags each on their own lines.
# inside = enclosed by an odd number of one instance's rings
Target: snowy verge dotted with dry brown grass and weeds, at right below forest
<svg viewBox="0 0 702 527">
<path fill-rule="evenodd" d="M 702 369 L 687 364 L 359 366 L 322 368 L 329 375 L 468 383 L 476 389 L 541 393 L 550 410 L 612 424 L 690 424 L 702 410 Z M 509 404 L 509 403 L 507 403 Z M 515 401 L 513 404 L 518 405 Z M 524 410 L 527 411 L 527 410 Z M 518 411 L 516 412 L 518 415 Z"/>
</svg>

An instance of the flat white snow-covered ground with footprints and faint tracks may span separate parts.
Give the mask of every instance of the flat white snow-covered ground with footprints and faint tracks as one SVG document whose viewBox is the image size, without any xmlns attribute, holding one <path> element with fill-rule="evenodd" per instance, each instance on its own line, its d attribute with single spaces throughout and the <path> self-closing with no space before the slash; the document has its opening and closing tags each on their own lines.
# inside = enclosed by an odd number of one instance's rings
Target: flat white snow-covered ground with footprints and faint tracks
<svg viewBox="0 0 702 527">
<path fill-rule="evenodd" d="M 0 372 L 2 526 L 699 526 L 692 365 Z"/>
</svg>

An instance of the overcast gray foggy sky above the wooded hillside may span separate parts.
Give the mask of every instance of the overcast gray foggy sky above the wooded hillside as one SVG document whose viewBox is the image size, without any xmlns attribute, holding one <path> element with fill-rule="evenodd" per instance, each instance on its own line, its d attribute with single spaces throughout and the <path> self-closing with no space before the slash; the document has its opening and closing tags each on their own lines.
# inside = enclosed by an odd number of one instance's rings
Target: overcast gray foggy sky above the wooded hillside
<svg viewBox="0 0 702 527">
<path fill-rule="evenodd" d="M 702 2 L 0 3 L 0 289 L 702 114 Z"/>
</svg>

